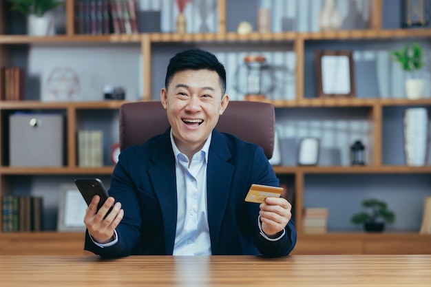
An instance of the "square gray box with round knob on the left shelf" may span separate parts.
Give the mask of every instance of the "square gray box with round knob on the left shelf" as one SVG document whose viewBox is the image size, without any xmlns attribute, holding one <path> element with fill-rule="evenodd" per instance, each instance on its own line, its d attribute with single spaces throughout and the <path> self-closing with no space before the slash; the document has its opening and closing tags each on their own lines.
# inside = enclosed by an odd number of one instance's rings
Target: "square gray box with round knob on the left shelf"
<svg viewBox="0 0 431 287">
<path fill-rule="evenodd" d="M 63 115 L 13 114 L 9 133 L 11 167 L 63 166 Z"/>
</svg>

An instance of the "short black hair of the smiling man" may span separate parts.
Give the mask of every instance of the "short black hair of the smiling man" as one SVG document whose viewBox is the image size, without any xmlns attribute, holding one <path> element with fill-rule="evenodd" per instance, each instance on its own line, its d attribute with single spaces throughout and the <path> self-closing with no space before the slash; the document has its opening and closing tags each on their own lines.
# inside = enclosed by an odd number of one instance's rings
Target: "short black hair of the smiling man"
<svg viewBox="0 0 431 287">
<path fill-rule="evenodd" d="M 184 70 L 210 70 L 216 72 L 220 77 L 222 96 L 226 92 L 226 70 L 211 52 L 195 48 L 175 54 L 167 66 L 165 88 L 167 89 L 176 72 Z"/>
</svg>

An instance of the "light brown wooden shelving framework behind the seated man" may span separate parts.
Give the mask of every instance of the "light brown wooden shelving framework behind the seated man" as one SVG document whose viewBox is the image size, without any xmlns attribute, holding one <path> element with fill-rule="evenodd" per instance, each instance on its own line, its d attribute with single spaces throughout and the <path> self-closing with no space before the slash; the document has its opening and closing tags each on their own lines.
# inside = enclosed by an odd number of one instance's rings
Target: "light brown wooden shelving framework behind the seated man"
<svg viewBox="0 0 431 287">
<path fill-rule="evenodd" d="M 295 224 L 298 231 L 298 243 L 294 254 L 382 254 L 382 253 L 415 253 L 431 254 L 431 235 L 418 233 L 327 233 L 322 235 L 308 235 L 302 233 L 302 211 L 304 207 L 305 177 L 307 175 L 367 175 L 367 174 L 431 174 L 431 167 L 407 167 L 382 163 L 382 114 L 385 107 L 431 106 L 431 99 L 407 100 L 404 98 L 306 98 L 304 95 L 304 53 L 310 41 L 374 41 L 390 39 L 421 38 L 431 39 L 431 29 L 417 30 L 385 30 L 381 28 L 382 1 L 372 1 L 371 27 L 368 30 L 344 30 L 334 32 L 279 32 L 240 35 L 226 30 L 227 0 L 219 0 L 219 27 L 217 33 L 208 34 L 110 34 L 110 35 L 79 35 L 74 34 L 74 0 L 65 0 L 66 33 L 58 36 L 33 37 L 26 35 L 0 34 L 0 67 L 12 65 L 12 50 L 16 45 L 139 45 L 143 54 L 144 83 L 142 100 L 151 100 L 151 63 L 153 46 L 158 43 L 204 43 L 205 45 L 223 45 L 235 43 L 289 43 L 293 45 L 297 65 L 295 67 L 296 95 L 293 100 L 269 100 L 277 109 L 295 108 L 355 108 L 368 109 L 368 118 L 374 129 L 372 147 L 375 155 L 373 162 L 365 167 L 281 167 L 275 166 L 275 172 L 280 176 L 292 176 L 295 182 Z M 3 10 L 3 11 L 2 11 Z M 0 8 L 0 23 L 4 22 L 5 11 Z M 4 31 L 4 24 L 0 24 L 0 32 Z M 0 82 L 3 90 L 3 82 Z M 88 109 L 116 110 L 123 101 L 110 102 L 65 102 L 44 103 L 41 101 L 25 100 L 22 102 L 0 101 L 1 119 L 16 110 L 61 110 L 67 117 L 67 164 L 61 168 L 24 168 L 9 167 L 4 164 L 7 160 L 5 144 L 8 140 L 1 125 L 0 132 L 0 195 L 10 190 L 10 177 L 17 176 L 74 176 L 74 175 L 106 175 L 112 173 L 113 167 L 81 168 L 76 163 L 76 121 L 80 111 Z M 1 213 L 0 213 L 1 219 Z M 1 220 L 0 220 L 1 222 Z M 82 233 L 0 233 L 0 254 L 84 254 Z"/>
</svg>

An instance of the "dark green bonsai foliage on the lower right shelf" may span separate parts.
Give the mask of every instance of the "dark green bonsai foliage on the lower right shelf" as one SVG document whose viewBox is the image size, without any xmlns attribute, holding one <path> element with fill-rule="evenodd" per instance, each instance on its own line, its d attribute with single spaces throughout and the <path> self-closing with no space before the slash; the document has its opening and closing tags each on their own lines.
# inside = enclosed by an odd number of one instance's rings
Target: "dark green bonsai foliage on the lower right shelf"
<svg viewBox="0 0 431 287">
<path fill-rule="evenodd" d="M 386 222 L 391 224 L 395 221 L 395 213 L 388 209 L 386 202 L 370 198 L 362 202 L 362 206 L 370 209 L 370 212 L 360 212 L 350 218 L 353 224 L 365 224 L 372 222 Z"/>
</svg>

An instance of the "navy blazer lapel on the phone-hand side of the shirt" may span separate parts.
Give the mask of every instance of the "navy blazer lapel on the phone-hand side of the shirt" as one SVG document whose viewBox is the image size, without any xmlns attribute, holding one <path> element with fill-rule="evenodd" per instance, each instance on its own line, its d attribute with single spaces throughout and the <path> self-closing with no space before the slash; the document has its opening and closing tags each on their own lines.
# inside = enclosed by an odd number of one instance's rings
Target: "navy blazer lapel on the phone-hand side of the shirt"
<svg viewBox="0 0 431 287">
<path fill-rule="evenodd" d="M 177 217 L 175 158 L 169 129 L 154 145 L 157 148 L 154 149 L 155 152 L 151 159 L 155 165 L 149 169 L 149 178 L 154 186 L 154 192 L 162 211 L 165 228 L 165 253 L 169 255 L 174 253 Z"/>
</svg>

